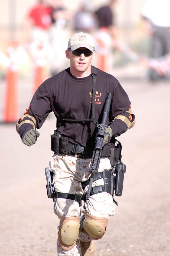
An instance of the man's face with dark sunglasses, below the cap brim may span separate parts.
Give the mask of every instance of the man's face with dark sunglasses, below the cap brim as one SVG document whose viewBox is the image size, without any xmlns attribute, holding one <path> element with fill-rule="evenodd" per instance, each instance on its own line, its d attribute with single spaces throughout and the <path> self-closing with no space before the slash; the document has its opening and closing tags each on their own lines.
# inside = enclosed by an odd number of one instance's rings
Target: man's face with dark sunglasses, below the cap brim
<svg viewBox="0 0 170 256">
<path fill-rule="evenodd" d="M 90 52 L 89 49 L 80 47 L 75 51 L 66 50 L 66 57 L 70 59 L 71 70 L 85 72 L 89 67 L 91 69 L 91 60 L 95 57 L 95 51 Z"/>
</svg>

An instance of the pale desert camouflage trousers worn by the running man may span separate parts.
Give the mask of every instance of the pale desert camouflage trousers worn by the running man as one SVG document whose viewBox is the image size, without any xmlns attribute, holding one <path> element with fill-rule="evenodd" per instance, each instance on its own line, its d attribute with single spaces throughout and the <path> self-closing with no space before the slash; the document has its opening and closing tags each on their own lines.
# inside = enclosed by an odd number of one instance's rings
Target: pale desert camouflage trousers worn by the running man
<svg viewBox="0 0 170 256">
<path fill-rule="evenodd" d="M 74 156 L 55 154 L 50 158 L 50 168 L 53 175 L 53 180 L 57 192 L 78 194 L 82 196 L 87 192 L 88 187 L 83 191 L 81 181 L 89 179 L 91 158 L 83 159 Z M 111 169 L 110 160 L 108 158 L 102 158 L 100 160 L 98 172 Z M 93 181 L 92 186 L 104 185 L 104 180 L 99 179 Z M 70 200 L 57 198 L 54 202 L 54 212 L 60 219 L 61 217 L 76 217 L 81 216 L 81 213 L 89 213 L 96 217 L 108 218 L 114 215 L 114 203 L 112 195 L 107 192 L 101 192 L 90 196 L 89 200 L 85 202 L 83 206 L 79 206 L 79 203 Z M 58 256 L 81 256 L 81 250 L 79 240 L 86 242 L 93 240 L 89 237 L 84 229 L 81 230 L 79 239 L 73 249 L 69 251 L 63 250 L 57 241 Z"/>
</svg>

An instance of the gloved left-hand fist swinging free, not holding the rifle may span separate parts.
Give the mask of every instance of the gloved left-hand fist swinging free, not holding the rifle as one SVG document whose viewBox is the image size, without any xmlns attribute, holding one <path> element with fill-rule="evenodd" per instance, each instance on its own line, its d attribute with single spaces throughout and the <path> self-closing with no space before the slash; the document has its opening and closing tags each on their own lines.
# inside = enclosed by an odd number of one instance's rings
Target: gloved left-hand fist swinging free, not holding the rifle
<svg viewBox="0 0 170 256">
<path fill-rule="evenodd" d="M 34 129 L 28 129 L 22 135 L 22 142 L 27 146 L 32 146 L 37 141 L 37 137 L 40 136 L 40 133 Z"/>
</svg>

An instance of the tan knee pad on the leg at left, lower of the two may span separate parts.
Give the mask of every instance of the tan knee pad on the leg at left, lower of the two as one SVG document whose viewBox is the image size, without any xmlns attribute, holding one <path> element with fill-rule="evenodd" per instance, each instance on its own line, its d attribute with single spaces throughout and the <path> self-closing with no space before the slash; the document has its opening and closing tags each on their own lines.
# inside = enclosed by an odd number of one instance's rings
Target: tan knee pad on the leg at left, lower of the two
<svg viewBox="0 0 170 256">
<path fill-rule="evenodd" d="M 60 246 L 68 251 L 71 250 L 79 237 L 80 218 L 79 217 L 61 217 L 60 230 L 58 232 L 58 242 Z"/>
</svg>

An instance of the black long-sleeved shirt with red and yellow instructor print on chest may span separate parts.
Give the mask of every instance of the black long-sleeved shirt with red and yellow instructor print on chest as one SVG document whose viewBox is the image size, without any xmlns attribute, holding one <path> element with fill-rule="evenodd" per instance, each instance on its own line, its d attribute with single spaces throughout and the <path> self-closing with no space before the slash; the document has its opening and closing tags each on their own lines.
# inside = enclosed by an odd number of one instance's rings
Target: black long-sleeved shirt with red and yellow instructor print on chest
<svg viewBox="0 0 170 256">
<path fill-rule="evenodd" d="M 127 111 L 130 101 L 119 81 L 112 75 L 97 68 L 97 87 L 95 96 L 95 118 L 100 124 L 102 110 L 108 93 L 113 95 L 110 125 L 113 136 L 119 136 L 126 132 L 127 125 L 120 119 L 112 122 L 112 119 Z M 81 146 L 94 146 L 97 128 L 93 122 L 67 123 L 61 119 L 91 119 L 91 100 L 93 90 L 92 75 L 84 78 L 76 78 L 67 68 L 59 74 L 50 77 L 39 86 L 31 100 L 28 112 L 35 116 L 39 129 L 50 112 L 57 117 L 57 129 L 72 143 Z M 27 124 L 21 125 L 26 128 Z M 55 129 L 52 128 L 52 131 Z M 20 132 L 22 132 L 20 130 Z"/>
</svg>

